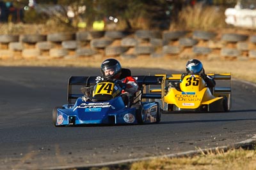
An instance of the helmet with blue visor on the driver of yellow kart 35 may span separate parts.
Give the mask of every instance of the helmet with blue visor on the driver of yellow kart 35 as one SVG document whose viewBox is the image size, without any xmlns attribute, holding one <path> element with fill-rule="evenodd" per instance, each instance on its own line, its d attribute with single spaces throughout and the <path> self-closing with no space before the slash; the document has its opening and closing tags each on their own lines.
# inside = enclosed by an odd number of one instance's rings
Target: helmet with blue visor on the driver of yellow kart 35
<svg viewBox="0 0 256 170">
<path fill-rule="evenodd" d="M 200 74 L 204 71 L 204 67 L 200 60 L 191 59 L 186 64 L 186 71 L 188 74 Z"/>
</svg>

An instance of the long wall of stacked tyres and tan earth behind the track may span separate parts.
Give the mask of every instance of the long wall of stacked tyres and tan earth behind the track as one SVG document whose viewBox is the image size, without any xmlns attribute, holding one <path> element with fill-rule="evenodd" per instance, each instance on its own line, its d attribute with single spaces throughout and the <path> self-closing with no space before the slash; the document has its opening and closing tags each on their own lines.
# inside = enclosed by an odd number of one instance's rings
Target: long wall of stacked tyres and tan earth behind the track
<svg viewBox="0 0 256 170">
<path fill-rule="evenodd" d="M 74 59 L 138 55 L 180 59 L 204 56 L 212 59 L 255 60 L 256 36 L 210 31 L 79 31 L 74 33 L 0 35 L 0 59 Z M 38 56 L 36 56 L 38 55 Z"/>
</svg>

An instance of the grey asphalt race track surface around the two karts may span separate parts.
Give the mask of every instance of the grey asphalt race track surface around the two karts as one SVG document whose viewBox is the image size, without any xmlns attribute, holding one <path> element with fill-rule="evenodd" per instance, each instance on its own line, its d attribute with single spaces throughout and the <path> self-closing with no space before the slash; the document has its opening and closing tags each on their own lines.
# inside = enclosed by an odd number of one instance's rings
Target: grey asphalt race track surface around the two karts
<svg viewBox="0 0 256 170">
<path fill-rule="evenodd" d="M 132 69 L 134 75 L 177 73 Z M 256 87 L 232 80 L 228 113 L 163 114 L 159 124 L 54 127 L 52 108 L 67 103 L 70 76 L 99 69 L 0 67 L 0 169 L 83 167 L 196 148 L 234 145 L 256 129 Z"/>
</svg>

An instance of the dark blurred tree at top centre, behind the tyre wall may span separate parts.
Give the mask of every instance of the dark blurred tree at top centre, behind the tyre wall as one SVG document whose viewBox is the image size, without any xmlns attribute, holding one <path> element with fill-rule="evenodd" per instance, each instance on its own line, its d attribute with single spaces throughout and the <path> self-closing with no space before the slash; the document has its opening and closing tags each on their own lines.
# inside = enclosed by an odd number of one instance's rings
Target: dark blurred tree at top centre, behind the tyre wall
<svg viewBox="0 0 256 170">
<path fill-rule="evenodd" d="M 115 16 L 124 20 L 127 29 L 137 29 L 138 22 L 147 23 L 148 28 L 159 28 L 159 21 L 168 20 L 166 11 L 170 2 L 166 0 L 100 0 L 99 10 L 104 16 Z"/>
</svg>

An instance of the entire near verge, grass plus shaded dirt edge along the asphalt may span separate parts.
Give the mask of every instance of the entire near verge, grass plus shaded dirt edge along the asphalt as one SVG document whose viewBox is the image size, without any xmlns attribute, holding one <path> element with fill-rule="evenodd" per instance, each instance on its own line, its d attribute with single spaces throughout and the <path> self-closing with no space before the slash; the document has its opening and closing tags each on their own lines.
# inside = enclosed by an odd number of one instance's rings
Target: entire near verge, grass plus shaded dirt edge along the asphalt
<svg viewBox="0 0 256 170">
<path fill-rule="evenodd" d="M 127 164 L 89 167 L 90 170 L 109 169 L 256 169 L 255 141 L 244 143 L 239 148 L 198 149 L 197 153 L 179 157 L 161 157 Z"/>
</svg>

